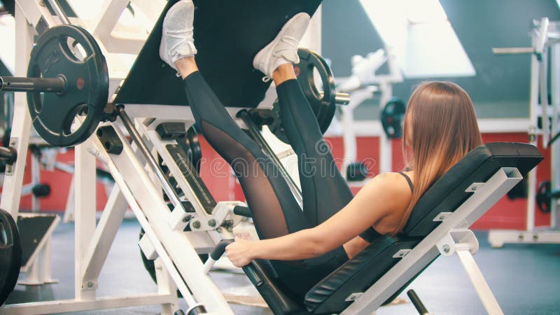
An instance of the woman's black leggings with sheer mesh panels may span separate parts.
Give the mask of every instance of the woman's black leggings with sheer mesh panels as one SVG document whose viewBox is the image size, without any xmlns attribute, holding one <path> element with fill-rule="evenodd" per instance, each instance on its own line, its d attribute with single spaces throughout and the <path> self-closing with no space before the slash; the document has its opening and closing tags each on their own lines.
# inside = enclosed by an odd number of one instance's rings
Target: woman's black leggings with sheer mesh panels
<svg viewBox="0 0 560 315">
<path fill-rule="evenodd" d="M 239 179 L 261 239 L 313 228 L 350 202 L 351 190 L 335 165 L 297 80 L 287 80 L 276 91 L 280 118 L 297 154 L 303 209 L 274 162 L 239 128 L 201 73 L 191 73 L 184 83 L 197 126 Z M 347 259 L 340 247 L 319 258 L 273 261 L 272 265 L 287 286 L 304 293 Z"/>
</svg>

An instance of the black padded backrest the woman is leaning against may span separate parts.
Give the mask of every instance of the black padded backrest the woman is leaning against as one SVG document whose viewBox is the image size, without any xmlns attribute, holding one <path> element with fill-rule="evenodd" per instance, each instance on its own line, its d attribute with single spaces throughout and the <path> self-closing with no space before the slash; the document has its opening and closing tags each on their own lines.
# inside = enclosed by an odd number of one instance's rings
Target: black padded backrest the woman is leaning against
<svg viewBox="0 0 560 315">
<path fill-rule="evenodd" d="M 351 293 L 364 292 L 398 262 L 393 255 L 402 248 L 413 248 L 433 231 L 440 212 L 455 211 L 470 193 L 472 183 L 484 183 L 501 167 L 517 167 L 526 174 L 542 160 L 538 150 L 528 144 L 493 143 L 468 153 L 421 197 L 399 237 L 381 236 L 337 270 L 329 274 L 305 296 L 305 305 L 315 313 L 338 312 L 349 302 Z M 402 288 L 401 288 L 402 290 Z"/>
</svg>

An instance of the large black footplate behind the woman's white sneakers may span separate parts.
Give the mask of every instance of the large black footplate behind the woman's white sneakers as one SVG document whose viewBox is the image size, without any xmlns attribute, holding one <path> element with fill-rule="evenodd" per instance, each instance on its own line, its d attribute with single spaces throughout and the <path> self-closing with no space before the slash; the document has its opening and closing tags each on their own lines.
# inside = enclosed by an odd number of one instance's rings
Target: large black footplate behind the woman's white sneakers
<svg viewBox="0 0 560 315">
<path fill-rule="evenodd" d="M 169 0 L 118 92 L 118 104 L 188 105 L 183 81 L 159 57 Z M 313 15 L 321 0 L 194 0 L 197 64 L 225 106 L 256 107 L 270 82 L 253 57 L 296 13 Z"/>
</svg>

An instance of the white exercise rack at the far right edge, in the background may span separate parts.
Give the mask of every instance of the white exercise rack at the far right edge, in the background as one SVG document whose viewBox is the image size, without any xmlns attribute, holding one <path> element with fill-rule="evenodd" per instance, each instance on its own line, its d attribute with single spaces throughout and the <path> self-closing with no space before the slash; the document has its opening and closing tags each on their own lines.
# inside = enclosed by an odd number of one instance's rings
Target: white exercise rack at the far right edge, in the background
<svg viewBox="0 0 560 315">
<path fill-rule="evenodd" d="M 550 181 L 536 183 L 536 169 L 528 174 L 526 230 L 491 230 L 493 247 L 504 244 L 560 244 L 560 22 L 548 18 L 533 21 L 530 48 L 494 48 L 503 54 L 531 54 L 529 143 L 538 138 L 550 149 Z M 550 78 L 550 82 L 548 80 Z M 550 90 L 549 90 L 550 87 Z M 538 187 L 538 188 L 537 188 Z M 550 214 L 550 226 L 535 227 L 535 205 Z"/>
</svg>

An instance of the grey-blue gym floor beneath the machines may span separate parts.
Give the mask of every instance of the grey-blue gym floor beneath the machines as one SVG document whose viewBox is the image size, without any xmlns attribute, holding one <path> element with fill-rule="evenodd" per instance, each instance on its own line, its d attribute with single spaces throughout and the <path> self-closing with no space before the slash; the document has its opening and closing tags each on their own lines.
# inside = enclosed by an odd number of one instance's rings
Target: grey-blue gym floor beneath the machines
<svg viewBox="0 0 560 315">
<path fill-rule="evenodd" d="M 155 292 L 155 284 L 142 265 L 137 246 L 140 226 L 125 220 L 99 276 L 99 296 Z M 475 255 L 482 273 L 505 314 L 560 314 L 560 245 L 506 245 L 491 248 L 485 232 L 477 232 L 480 249 Z M 73 224 L 60 224 L 52 237 L 52 276 L 59 283 L 16 286 L 7 303 L 73 298 Z M 211 272 L 225 292 L 258 295 L 239 272 Z M 456 257 L 438 258 L 410 286 L 434 314 L 484 314 L 484 307 Z M 380 315 L 417 314 L 407 302 L 381 307 Z M 186 304 L 180 300 L 182 309 Z M 235 314 L 268 315 L 262 307 L 231 304 Z M 79 314 L 159 314 L 160 307 L 132 307 L 80 312 Z"/>
</svg>

